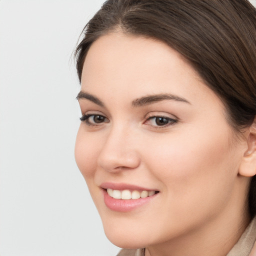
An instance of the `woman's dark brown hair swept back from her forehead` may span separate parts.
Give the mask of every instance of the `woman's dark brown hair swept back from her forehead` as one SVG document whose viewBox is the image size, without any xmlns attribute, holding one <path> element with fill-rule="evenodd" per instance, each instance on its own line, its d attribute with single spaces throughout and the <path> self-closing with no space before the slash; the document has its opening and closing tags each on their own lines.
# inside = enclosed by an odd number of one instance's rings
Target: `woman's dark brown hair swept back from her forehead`
<svg viewBox="0 0 256 256">
<path fill-rule="evenodd" d="M 223 101 L 236 129 L 256 115 L 256 9 L 247 0 L 107 0 L 83 29 L 76 68 L 101 35 L 125 33 L 157 38 L 182 54 Z M 256 215 L 256 176 L 248 192 Z"/>
</svg>

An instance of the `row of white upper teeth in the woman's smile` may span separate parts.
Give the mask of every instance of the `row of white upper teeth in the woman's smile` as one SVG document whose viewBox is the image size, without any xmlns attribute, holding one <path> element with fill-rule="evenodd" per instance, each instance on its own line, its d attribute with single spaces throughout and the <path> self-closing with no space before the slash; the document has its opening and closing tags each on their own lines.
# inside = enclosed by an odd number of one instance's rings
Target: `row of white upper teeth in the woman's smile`
<svg viewBox="0 0 256 256">
<path fill-rule="evenodd" d="M 145 198 L 147 196 L 151 196 L 155 194 L 155 191 L 146 191 L 143 190 L 141 192 L 137 190 L 133 190 L 132 192 L 128 189 L 124 190 L 116 190 L 116 189 L 111 189 L 107 188 L 106 189 L 107 194 L 115 199 L 124 199 L 124 200 L 129 200 L 129 199 L 138 199 L 138 198 Z"/>
</svg>

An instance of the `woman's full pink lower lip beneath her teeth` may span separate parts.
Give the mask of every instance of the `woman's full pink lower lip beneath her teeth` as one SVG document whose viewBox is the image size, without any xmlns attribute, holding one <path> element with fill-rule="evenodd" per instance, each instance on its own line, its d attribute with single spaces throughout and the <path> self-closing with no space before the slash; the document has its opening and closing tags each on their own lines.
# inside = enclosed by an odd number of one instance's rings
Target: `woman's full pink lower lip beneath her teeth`
<svg viewBox="0 0 256 256">
<path fill-rule="evenodd" d="M 154 194 L 151 196 L 147 196 L 145 198 L 125 200 L 125 199 L 115 199 L 115 198 L 109 196 L 107 194 L 106 190 L 103 190 L 103 193 L 104 193 L 105 205 L 111 210 L 121 211 L 121 212 L 127 212 L 127 211 L 134 210 L 134 209 L 148 203 L 156 196 L 156 194 Z"/>
</svg>

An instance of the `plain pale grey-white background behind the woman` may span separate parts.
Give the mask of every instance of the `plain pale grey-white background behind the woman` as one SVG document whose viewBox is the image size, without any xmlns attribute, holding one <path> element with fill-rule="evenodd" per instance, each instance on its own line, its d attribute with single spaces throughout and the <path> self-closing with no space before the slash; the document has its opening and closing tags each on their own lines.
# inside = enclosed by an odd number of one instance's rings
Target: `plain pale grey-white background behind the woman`
<svg viewBox="0 0 256 256">
<path fill-rule="evenodd" d="M 0 256 L 119 250 L 73 156 L 80 113 L 70 56 L 102 2 L 0 0 Z"/>
</svg>

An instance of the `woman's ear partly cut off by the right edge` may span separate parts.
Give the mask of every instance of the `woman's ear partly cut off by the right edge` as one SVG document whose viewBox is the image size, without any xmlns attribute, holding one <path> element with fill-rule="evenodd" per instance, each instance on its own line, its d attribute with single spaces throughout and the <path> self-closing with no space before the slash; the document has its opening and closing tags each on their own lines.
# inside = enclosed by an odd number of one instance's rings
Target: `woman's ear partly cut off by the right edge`
<svg viewBox="0 0 256 256">
<path fill-rule="evenodd" d="M 249 127 L 247 135 L 247 150 L 244 152 L 239 174 L 246 177 L 252 177 L 256 174 L 256 121 Z"/>
</svg>

